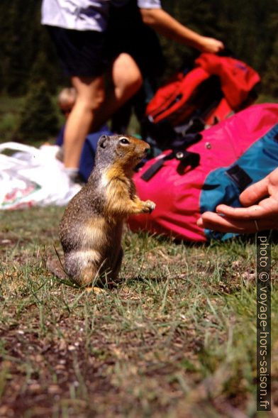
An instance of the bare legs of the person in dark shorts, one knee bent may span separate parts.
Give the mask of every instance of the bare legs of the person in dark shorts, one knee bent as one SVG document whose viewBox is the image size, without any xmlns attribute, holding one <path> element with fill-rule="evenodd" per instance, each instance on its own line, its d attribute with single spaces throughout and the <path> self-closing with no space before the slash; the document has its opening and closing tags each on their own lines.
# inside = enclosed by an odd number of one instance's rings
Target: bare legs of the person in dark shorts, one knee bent
<svg viewBox="0 0 278 418">
<path fill-rule="evenodd" d="M 105 123 L 140 89 L 143 79 L 130 55 L 121 53 L 111 67 L 112 88 L 105 94 L 104 77 L 72 77 L 77 99 L 65 128 L 65 168 L 77 169 L 85 138 Z"/>
</svg>

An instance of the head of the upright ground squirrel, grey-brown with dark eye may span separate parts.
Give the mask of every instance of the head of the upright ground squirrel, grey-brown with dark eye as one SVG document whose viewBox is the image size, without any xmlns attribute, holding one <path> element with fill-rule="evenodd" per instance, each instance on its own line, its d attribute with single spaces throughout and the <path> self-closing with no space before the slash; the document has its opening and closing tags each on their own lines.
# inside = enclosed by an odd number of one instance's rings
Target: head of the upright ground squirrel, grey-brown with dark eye
<svg viewBox="0 0 278 418">
<path fill-rule="evenodd" d="M 95 166 L 117 165 L 132 170 L 145 157 L 150 145 L 129 135 L 102 135 L 96 148 Z"/>
</svg>

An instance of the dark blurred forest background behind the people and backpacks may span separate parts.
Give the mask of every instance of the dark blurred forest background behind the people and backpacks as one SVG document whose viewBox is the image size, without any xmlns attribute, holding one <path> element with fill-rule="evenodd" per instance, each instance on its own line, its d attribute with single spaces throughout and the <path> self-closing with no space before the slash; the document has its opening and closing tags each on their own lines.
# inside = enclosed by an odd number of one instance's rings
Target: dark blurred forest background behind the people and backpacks
<svg viewBox="0 0 278 418">
<path fill-rule="evenodd" d="M 55 138 L 62 124 L 57 92 L 70 84 L 40 25 L 40 4 L 0 2 L 0 142 L 36 145 Z M 162 0 L 162 6 L 189 28 L 223 40 L 235 57 L 257 70 L 258 101 L 278 101 L 277 0 Z M 162 83 L 196 52 L 165 38 L 161 43 L 167 60 Z"/>
</svg>

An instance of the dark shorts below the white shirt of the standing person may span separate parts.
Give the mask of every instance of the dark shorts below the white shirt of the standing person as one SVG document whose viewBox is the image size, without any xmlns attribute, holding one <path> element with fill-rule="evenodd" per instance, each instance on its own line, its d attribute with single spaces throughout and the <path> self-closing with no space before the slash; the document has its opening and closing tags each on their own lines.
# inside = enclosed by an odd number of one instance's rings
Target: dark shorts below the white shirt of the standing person
<svg viewBox="0 0 278 418">
<path fill-rule="evenodd" d="M 108 67 L 104 55 L 104 34 L 46 26 L 55 43 L 66 75 L 99 77 Z"/>
</svg>

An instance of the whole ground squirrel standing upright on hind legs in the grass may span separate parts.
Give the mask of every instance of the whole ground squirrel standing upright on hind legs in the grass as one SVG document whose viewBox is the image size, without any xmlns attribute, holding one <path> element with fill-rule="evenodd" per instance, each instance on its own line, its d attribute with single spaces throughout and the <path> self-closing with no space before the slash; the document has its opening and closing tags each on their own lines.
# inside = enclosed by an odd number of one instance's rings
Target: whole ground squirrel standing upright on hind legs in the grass
<svg viewBox="0 0 278 418">
<path fill-rule="evenodd" d="M 67 273 L 79 285 L 97 277 L 116 280 L 121 268 L 123 221 L 131 214 L 150 213 L 155 204 L 140 201 L 132 180 L 133 169 L 150 148 L 133 136 L 99 138 L 94 170 L 73 197 L 60 222 L 65 265 L 48 268 L 58 277 Z"/>
</svg>

